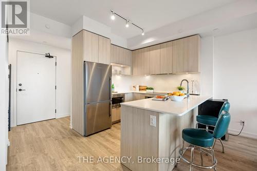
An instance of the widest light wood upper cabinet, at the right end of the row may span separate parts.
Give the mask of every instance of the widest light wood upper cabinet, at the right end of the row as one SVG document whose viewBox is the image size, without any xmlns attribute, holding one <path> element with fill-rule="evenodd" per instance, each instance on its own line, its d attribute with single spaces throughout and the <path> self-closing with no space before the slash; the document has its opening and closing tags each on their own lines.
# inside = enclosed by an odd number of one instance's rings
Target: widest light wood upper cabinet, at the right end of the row
<svg viewBox="0 0 257 171">
<path fill-rule="evenodd" d="M 173 73 L 200 72 L 200 36 L 173 41 Z"/>
</svg>

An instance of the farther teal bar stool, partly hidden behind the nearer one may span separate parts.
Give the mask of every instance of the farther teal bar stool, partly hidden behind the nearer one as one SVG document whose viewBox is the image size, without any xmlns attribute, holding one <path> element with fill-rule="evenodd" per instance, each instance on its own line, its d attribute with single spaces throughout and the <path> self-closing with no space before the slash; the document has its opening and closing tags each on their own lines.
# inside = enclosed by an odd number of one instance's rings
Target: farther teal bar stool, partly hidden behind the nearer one
<svg viewBox="0 0 257 171">
<path fill-rule="evenodd" d="M 228 101 L 225 101 L 224 104 L 222 105 L 221 110 L 219 110 L 218 116 L 221 115 L 223 110 L 226 110 L 229 112 L 229 108 L 230 108 L 230 103 Z M 201 124 L 206 126 L 206 131 L 212 131 L 212 130 L 209 130 L 209 126 L 215 127 L 217 120 L 218 120 L 217 117 L 208 116 L 208 115 L 198 115 L 196 116 L 196 128 L 198 128 L 198 124 Z M 221 139 L 219 139 L 219 141 L 222 144 L 222 153 L 225 153 L 224 144 Z"/>
</svg>

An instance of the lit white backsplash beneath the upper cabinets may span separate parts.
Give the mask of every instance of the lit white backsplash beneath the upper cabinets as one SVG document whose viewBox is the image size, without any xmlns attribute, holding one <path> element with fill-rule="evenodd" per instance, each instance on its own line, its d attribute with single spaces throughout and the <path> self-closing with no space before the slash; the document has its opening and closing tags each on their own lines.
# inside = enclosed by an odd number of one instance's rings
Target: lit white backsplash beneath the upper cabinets
<svg viewBox="0 0 257 171">
<path fill-rule="evenodd" d="M 115 85 L 115 91 L 132 90 L 132 85 L 144 85 L 154 87 L 154 91 L 175 91 L 176 87 L 180 85 L 181 80 L 187 79 L 189 81 L 189 90 L 192 92 L 192 80 L 194 80 L 194 93 L 200 92 L 200 73 L 194 74 L 160 74 L 147 76 L 119 76 L 113 75 L 112 82 Z M 182 84 L 187 88 L 186 82 Z"/>
</svg>

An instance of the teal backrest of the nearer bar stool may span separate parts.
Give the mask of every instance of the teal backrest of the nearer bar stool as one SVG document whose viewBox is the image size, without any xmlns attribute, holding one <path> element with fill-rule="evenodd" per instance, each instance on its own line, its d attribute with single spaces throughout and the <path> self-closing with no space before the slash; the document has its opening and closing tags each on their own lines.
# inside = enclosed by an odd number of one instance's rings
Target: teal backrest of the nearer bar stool
<svg viewBox="0 0 257 171">
<path fill-rule="evenodd" d="M 218 121 L 214 128 L 212 136 L 215 139 L 222 138 L 228 130 L 229 123 L 230 123 L 230 113 L 226 110 L 223 110 L 221 115 L 218 117 Z"/>
</svg>

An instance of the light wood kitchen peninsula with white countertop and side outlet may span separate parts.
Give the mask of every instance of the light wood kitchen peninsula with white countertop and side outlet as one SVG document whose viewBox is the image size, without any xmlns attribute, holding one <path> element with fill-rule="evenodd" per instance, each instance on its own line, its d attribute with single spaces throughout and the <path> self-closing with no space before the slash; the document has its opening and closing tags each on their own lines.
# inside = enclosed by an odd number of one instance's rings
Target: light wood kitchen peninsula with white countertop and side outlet
<svg viewBox="0 0 257 171">
<path fill-rule="evenodd" d="M 181 102 L 143 99 L 121 104 L 122 164 L 131 170 L 172 170 L 174 163 L 138 161 L 139 158 L 176 159 L 183 128 L 194 127 L 198 105 L 211 96 L 190 96 Z M 149 160 L 148 160 L 149 161 Z"/>
</svg>

